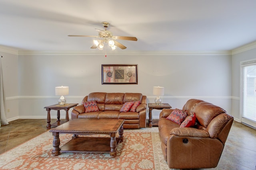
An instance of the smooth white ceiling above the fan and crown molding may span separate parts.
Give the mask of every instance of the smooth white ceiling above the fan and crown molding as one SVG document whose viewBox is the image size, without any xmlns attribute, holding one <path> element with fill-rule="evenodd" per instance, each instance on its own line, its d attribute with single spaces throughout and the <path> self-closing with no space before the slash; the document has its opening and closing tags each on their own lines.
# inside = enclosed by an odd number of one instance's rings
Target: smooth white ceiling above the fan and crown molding
<svg viewBox="0 0 256 170">
<path fill-rule="evenodd" d="M 138 38 L 118 40 L 125 51 L 226 51 L 256 41 L 256 0 L 0 0 L 0 46 L 95 51 L 67 35 L 98 35 L 102 21 Z"/>
</svg>

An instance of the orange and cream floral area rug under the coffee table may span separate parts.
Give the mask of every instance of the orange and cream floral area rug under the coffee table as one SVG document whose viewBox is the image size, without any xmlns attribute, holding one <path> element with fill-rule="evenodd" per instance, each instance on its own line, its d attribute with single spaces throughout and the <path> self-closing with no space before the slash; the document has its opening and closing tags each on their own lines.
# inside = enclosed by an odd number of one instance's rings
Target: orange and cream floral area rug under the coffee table
<svg viewBox="0 0 256 170">
<path fill-rule="evenodd" d="M 97 135 L 92 135 L 97 136 Z M 106 135 L 105 135 L 106 137 Z M 60 134 L 60 146 L 72 138 Z M 160 146 L 158 128 L 124 130 L 117 156 L 109 153 L 61 153 L 52 156 L 52 133 L 45 132 L 0 155 L 0 169 L 33 170 L 166 170 L 169 169 Z"/>
</svg>

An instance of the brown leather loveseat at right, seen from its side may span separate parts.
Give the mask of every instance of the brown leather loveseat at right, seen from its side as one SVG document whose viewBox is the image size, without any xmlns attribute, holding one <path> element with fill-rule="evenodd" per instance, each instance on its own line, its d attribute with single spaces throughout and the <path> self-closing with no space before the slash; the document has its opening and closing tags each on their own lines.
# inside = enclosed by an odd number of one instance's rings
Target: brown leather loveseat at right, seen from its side
<svg viewBox="0 0 256 170">
<path fill-rule="evenodd" d="M 173 109 L 163 109 L 158 121 L 162 152 L 169 168 L 214 168 L 218 165 L 234 118 L 218 106 L 190 99 L 182 108 L 195 113 L 197 125 L 180 127 L 166 119 Z"/>
</svg>

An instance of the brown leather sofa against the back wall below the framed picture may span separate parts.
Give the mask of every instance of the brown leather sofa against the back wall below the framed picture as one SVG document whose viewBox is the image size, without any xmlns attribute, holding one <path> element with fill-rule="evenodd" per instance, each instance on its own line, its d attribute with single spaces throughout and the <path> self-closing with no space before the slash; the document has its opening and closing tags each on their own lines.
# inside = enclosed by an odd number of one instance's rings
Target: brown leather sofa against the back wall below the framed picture
<svg viewBox="0 0 256 170">
<path fill-rule="evenodd" d="M 139 101 L 136 112 L 120 112 L 126 102 Z M 86 112 L 83 102 L 96 101 L 99 111 Z M 146 127 L 147 97 L 141 93 L 104 93 L 94 92 L 85 96 L 81 105 L 73 107 L 72 119 L 125 119 L 124 129 Z"/>
</svg>

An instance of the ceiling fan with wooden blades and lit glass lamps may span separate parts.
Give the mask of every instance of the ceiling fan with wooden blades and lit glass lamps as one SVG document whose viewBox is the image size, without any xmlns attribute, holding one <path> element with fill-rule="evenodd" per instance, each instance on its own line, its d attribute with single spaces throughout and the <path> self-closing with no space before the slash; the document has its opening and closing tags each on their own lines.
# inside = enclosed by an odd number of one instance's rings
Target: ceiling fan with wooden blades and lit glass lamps
<svg viewBox="0 0 256 170">
<path fill-rule="evenodd" d="M 116 47 L 119 47 L 120 49 L 126 49 L 124 45 L 116 41 L 116 39 L 120 40 L 129 40 L 129 41 L 137 41 L 138 39 L 136 37 L 126 37 L 126 36 L 114 36 L 111 31 L 107 31 L 107 27 L 110 25 L 108 22 L 102 22 L 103 27 L 105 30 L 96 29 L 98 31 L 98 36 L 94 35 L 68 35 L 69 37 L 96 37 L 96 38 L 102 38 L 98 40 L 93 40 L 93 45 L 91 49 L 100 49 L 102 50 L 104 47 L 104 43 L 108 43 L 108 45 L 112 48 L 112 50 L 115 50 Z"/>
</svg>

